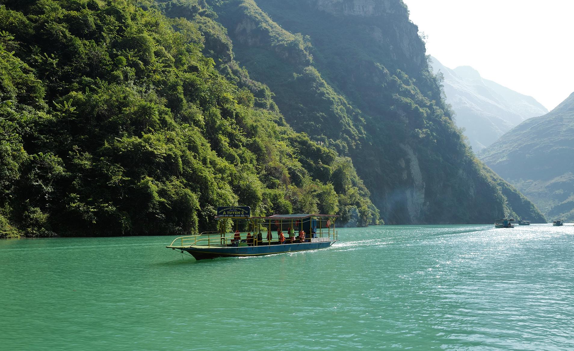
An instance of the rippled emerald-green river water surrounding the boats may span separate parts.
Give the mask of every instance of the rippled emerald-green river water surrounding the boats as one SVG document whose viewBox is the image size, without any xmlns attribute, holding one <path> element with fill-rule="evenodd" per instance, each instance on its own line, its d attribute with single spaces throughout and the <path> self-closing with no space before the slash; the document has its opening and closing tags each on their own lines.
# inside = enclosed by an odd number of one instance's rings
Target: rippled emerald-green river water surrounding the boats
<svg viewBox="0 0 574 351">
<path fill-rule="evenodd" d="M 348 228 L 203 261 L 171 240 L 0 241 L 0 349 L 574 349 L 572 225 Z"/>
</svg>

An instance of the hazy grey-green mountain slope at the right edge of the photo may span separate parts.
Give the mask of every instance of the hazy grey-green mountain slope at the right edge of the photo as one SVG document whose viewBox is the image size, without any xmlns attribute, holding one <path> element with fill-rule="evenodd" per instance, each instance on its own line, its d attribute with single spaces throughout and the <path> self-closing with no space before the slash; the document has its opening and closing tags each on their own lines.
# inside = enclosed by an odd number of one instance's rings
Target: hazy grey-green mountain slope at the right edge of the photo
<svg viewBox="0 0 574 351">
<path fill-rule="evenodd" d="M 574 93 L 548 114 L 511 129 L 480 157 L 546 218 L 574 221 Z"/>
</svg>

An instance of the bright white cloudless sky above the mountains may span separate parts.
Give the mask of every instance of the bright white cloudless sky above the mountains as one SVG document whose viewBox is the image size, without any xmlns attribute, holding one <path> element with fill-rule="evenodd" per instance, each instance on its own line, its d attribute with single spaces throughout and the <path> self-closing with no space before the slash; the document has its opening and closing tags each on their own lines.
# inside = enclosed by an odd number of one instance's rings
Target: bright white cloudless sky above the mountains
<svg viewBox="0 0 574 351">
<path fill-rule="evenodd" d="M 404 0 L 426 53 L 552 110 L 574 91 L 574 1 Z"/>
</svg>

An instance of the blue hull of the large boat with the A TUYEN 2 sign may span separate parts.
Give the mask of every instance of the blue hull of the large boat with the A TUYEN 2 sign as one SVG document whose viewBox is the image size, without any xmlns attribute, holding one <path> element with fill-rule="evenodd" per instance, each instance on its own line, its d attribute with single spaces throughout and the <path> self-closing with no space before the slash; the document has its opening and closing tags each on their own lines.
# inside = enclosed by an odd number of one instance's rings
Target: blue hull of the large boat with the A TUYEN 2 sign
<svg viewBox="0 0 574 351">
<path fill-rule="evenodd" d="M 305 250 L 317 250 L 328 248 L 333 245 L 335 240 L 321 242 L 304 242 L 301 244 L 283 244 L 283 245 L 261 245 L 261 246 L 227 246 L 227 247 L 210 247 L 197 248 L 190 246 L 188 248 L 177 248 L 177 250 L 187 251 L 196 260 L 215 259 L 217 257 L 249 257 L 262 256 L 265 254 L 297 252 Z M 169 247 L 169 246 L 168 246 Z M 175 249 L 175 248 L 173 248 Z"/>
</svg>

